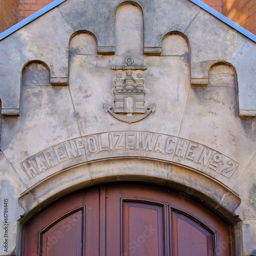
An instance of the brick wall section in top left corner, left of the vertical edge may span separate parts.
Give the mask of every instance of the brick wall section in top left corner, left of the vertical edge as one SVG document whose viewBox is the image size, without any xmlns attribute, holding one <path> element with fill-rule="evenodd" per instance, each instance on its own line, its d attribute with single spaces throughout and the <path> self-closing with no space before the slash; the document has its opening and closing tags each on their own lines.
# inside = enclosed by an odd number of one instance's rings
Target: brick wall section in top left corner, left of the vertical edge
<svg viewBox="0 0 256 256">
<path fill-rule="evenodd" d="M 0 33 L 18 22 L 18 0 L 0 0 Z"/>
</svg>

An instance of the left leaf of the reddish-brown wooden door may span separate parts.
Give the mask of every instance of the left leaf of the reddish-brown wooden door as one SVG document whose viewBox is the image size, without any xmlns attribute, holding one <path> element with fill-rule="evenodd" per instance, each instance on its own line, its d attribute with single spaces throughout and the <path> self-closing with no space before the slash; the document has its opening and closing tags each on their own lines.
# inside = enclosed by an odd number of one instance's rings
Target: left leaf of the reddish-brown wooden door
<svg viewBox="0 0 256 256">
<path fill-rule="evenodd" d="M 82 212 L 81 212 L 82 209 Z M 78 214 L 78 216 L 76 216 Z M 74 250 L 66 250 L 68 246 L 66 243 L 63 246 L 63 251 L 58 253 L 52 253 L 49 250 L 49 255 L 54 256 L 81 256 L 81 255 L 93 255 L 97 256 L 99 251 L 99 222 L 97 216 L 99 215 L 99 188 L 90 189 L 90 193 L 80 192 L 75 195 L 66 197 L 60 200 L 54 205 L 48 207 L 39 215 L 35 216 L 31 221 L 27 222 L 23 226 L 23 242 L 21 255 L 23 256 L 42 256 L 46 253 L 45 241 L 48 233 L 48 228 L 51 230 L 56 229 L 57 234 L 61 239 L 58 239 L 58 243 L 54 248 L 60 247 L 63 241 L 67 241 L 70 238 L 70 231 L 80 233 L 82 230 L 82 246 L 81 240 L 72 240 L 72 245 L 69 248 Z M 71 219 L 70 219 L 71 218 Z M 63 219 L 63 222 L 61 221 Z M 76 220 L 79 220 L 76 223 Z M 66 222 L 66 223 L 65 223 Z M 63 225 L 62 225 L 63 224 Z M 79 227 L 80 225 L 80 227 Z M 76 229 L 77 230 L 74 230 Z M 68 231 L 67 231 L 68 230 Z M 62 231 L 62 233 L 57 231 Z M 54 231 L 53 231 L 54 232 Z M 63 237 L 61 236 L 63 234 Z M 42 241 L 44 237 L 44 242 Z M 51 235 L 50 235 L 51 237 Z M 58 238 L 58 237 L 57 237 Z M 53 240 L 54 242 L 54 240 Z M 50 240 L 48 242 L 50 245 Z M 52 246 L 53 247 L 53 246 Z M 44 248 L 44 249 L 43 249 Z M 81 248 L 81 252 L 77 248 Z M 48 255 L 48 254 L 46 254 Z"/>
</svg>

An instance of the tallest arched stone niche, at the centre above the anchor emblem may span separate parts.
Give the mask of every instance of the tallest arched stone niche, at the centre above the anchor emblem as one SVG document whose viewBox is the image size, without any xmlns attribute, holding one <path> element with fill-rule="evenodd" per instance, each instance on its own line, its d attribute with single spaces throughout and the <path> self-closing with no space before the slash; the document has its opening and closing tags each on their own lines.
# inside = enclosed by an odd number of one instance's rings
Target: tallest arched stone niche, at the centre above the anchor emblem
<svg viewBox="0 0 256 256">
<path fill-rule="evenodd" d="M 143 54 L 143 11 L 134 2 L 116 8 L 115 53 Z"/>
</svg>

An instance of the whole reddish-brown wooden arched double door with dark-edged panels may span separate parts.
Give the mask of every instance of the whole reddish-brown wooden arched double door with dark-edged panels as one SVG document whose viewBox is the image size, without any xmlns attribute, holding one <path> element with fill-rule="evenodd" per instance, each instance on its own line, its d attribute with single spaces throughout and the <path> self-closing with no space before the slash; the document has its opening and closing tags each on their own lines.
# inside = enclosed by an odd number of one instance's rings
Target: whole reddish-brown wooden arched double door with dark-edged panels
<svg viewBox="0 0 256 256">
<path fill-rule="evenodd" d="M 23 228 L 23 256 L 232 255 L 230 228 L 189 195 L 106 185 L 58 201 Z"/>
</svg>

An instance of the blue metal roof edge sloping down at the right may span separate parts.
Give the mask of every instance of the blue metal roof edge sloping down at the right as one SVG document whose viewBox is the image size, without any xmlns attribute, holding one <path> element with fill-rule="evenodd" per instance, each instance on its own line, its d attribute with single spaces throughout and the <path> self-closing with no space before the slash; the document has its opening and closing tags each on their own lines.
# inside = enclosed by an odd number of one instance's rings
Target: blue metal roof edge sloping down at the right
<svg viewBox="0 0 256 256">
<path fill-rule="evenodd" d="M 241 34 L 247 36 L 248 38 L 250 38 L 252 41 L 256 42 L 256 35 L 252 34 L 251 32 L 249 32 L 248 30 L 244 29 L 243 27 L 241 27 L 240 25 L 238 25 L 237 23 L 234 23 L 231 19 L 227 18 L 226 16 L 224 16 L 223 14 L 219 13 L 218 11 L 212 9 L 211 7 L 209 7 L 208 5 L 206 5 L 205 3 L 201 2 L 200 0 L 189 0 L 190 2 L 193 2 L 194 4 L 198 5 L 199 7 L 201 7 L 202 9 L 204 9 L 205 11 L 209 12 L 210 14 L 214 15 L 215 17 L 217 17 L 218 19 L 222 20 L 222 22 L 226 23 L 228 26 L 230 26 L 233 29 L 236 29 L 237 31 L 239 31 Z"/>
</svg>

